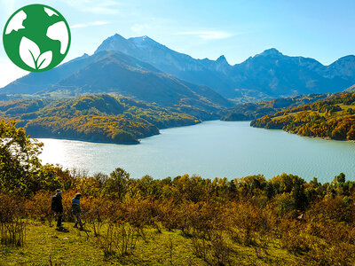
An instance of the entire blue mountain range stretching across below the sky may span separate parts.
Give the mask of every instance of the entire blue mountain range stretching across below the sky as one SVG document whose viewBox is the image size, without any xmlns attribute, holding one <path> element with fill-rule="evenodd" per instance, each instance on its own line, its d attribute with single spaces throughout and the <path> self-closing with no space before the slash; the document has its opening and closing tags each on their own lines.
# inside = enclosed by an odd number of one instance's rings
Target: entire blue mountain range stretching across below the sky
<svg viewBox="0 0 355 266">
<path fill-rule="evenodd" d="M 108 37 L 91 56 L 84 54 L 44 73 L 5 86 L 3 94 L 115 93 L 162 106 L 214 110 L 232 103 L 337 92 L 355 83 L 355 56 L 324 66 L 269 49 L 241 64 L 193 59 L 147 36 Z"/>
</svg>

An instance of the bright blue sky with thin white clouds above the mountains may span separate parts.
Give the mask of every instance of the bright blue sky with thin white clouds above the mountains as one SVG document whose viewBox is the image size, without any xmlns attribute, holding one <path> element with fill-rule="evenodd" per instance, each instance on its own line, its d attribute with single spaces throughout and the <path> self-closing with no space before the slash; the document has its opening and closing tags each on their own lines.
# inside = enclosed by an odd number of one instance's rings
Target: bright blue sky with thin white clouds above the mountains
<svg viewBox="0 0 355 266">
<path fill-rule="evenodd" d="M 268 48 L 328 65 L 355 54 L 355 1 L 289 0 L 0 0 L 3 31 L 12 12 L 48 4 L 70 24 L 67 59 L 91 54 L 109 35 L 148 35 L 193 58 L 241 63 Z M 1 42 L 2 43 L 2 42 Z M 0 87 L 26 74 L 0 45 Z"/>
</svg>

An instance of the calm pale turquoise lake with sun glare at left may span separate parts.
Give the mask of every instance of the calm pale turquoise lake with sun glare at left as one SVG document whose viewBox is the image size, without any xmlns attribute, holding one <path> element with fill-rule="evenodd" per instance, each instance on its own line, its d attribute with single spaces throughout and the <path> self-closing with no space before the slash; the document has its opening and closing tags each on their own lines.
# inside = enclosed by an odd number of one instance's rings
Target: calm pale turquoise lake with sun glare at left
<svg viewBox="0 0 355 266">
<path fill-rule="evenodd" d="M 82 168 L 90 174 L 109 174 L 124 168 L 131 177 L 154 178 L 185 173 L 227 177 L 283 172 L 316 176 L 330 182 L 343 172 L 355 180 L 355 143 L 299 137 L 282 130 L 256 129 L 248 121 L 206 121 L 198 125 L 162 129 L 139 145 L 113 145 L 40 138 L 43 163 Z"/>
</svg>

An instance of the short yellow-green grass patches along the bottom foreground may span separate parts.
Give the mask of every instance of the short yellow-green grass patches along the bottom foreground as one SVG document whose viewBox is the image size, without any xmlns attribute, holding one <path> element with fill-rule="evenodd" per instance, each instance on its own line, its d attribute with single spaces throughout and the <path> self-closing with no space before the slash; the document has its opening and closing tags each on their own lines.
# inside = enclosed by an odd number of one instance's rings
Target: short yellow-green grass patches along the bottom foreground
<svg viewBox="0 0 355 266">
<path fill-rule="evenodd" d="M 66 223 L 69 232 L 62 232 L 47 223 L 29 222 L 26 246 L 0 247 L 0 265 L 49 265 L 50 260 L 52 265 L 207 265 L 193 254 L 192 239 L 185 238 L 178 231 L 157 233 L 154 229 L 146 229 L 146 241 L 139 239 L 133 254 L 105 261 L 93 234 L 88 232 L 88 236 L 71 226 L 72 223 Z M 233 254 L 235 264 L 296 265 L 299 259 L 277 245 L 261 252 L 256 252 L 254 247 L 232 245 L 236 251 Z"/>
</svg>

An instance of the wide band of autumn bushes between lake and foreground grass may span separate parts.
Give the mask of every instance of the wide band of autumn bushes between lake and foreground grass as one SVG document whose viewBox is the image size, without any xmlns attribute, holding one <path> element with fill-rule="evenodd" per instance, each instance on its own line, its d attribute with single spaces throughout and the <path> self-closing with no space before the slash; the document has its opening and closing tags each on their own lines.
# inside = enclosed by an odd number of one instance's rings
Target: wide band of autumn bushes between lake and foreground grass
<svg viewBox="0 0 355 266">
<path fill-rule="evenodd" d="M 58 173 L 67 185 L 64 220 L 74 221 L 71 199 L 80 191 L 83 221 L 107 259 L 131 254 L 138 239 L 146 241 L 146 229 L 154 228 L 179 231 L 192 242 L 193 254 L 212 265 L 235 262 L 235 244 L 253 247 L 258 255 L 280 246 L 318 265 L 335 263 L 334 257 L 343 265 L 352 262 L 347 254 L 355 246 L 355 186 L 343 175 L 319 184 L 287 174 L 226 181 L 187 175 L 131 179 L 122 169 L 110 176 Z M 8 206 L 17 206 L 23 218 L 51 223 L 52 194 L 41 190 L 17 200 L 3 195 L 1 221 L 12 217 L 6 215 L 12 210 Z M 303 204 L 297 204 L 300 200 Z"/>
</svg>

